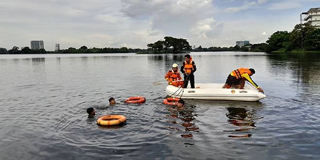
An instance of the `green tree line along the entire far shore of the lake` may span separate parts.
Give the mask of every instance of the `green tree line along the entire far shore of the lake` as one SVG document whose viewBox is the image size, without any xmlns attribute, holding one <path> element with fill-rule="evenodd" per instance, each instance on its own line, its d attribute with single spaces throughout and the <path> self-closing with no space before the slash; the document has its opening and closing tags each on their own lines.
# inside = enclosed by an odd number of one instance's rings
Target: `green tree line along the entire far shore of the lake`
<svg viewBox="0 0 320 160">
<path fill-rule="evenodd" d="M 291 32 L 277 31 L 273 33 L 266 43 L 246 44 L 239 47 L 209 47 L 201 46 L 192 49 L 187 39 L 165 36 L 164 40 L 158 40 L 147 44 L 147 49 L 131 48 L 89 48 L 82 46 L 79 49 L 70 47 L 66 50 L 46 51 L 45 49 L 32 50 L 24 47 L 21 50 L 14 46 L 11 50 L 0 48 L 0 53 L 28 54 L 28 53 L 185 53 L 185 52 L 289 52 L 289 51 L 320 51 L 320 29 L 309 23 L 297 24 Z"/>
</svg>

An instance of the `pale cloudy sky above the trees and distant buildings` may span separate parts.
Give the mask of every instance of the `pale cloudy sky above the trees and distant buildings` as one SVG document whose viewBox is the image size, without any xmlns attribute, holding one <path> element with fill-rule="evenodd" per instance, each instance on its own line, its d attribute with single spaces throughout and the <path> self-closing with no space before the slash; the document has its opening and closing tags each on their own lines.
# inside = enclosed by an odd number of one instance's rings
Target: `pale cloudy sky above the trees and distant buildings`
<svg viewBox="0 0 320 160">
<path fill-rule="evenodd" d="M 1 0 L 0 47 L 147 48 L 164 36 L 196 47 L 262 43 L 316 7 L 320 0 Z"/>
</svg>

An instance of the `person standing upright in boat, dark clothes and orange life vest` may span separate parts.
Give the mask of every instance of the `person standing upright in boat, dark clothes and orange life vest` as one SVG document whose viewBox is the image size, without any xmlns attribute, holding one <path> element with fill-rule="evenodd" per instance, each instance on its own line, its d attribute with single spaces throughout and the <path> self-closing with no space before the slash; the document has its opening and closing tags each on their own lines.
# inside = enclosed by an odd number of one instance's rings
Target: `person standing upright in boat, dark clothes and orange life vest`
<svg viewBox="0 0 320 160">
<path fill-rule="evenodd" d="M 181 72 L 183 73 L 184 79 L 184 87 L 187 88 L 188 82 L 190 80 L 190 86 L 192 89 L 195 88 L 195 75 L 194 72 L 196 71 L 196 63 L 192 60 L 190 54 L 184 55 L 184 62 L 181 66 Z"/>
</svg>

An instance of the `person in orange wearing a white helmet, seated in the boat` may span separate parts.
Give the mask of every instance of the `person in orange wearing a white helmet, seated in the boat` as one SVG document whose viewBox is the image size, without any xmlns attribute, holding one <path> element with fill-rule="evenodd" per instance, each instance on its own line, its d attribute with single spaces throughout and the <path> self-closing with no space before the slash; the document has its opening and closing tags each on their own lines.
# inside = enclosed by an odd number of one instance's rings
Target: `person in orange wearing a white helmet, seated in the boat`
<svg viewBox="0 0 320 160">
<path fill-rule="evenodd" d="M 164 78 L 169 82 L 169 85 L 173 85 L 176 87 L 183 85 L 183 81 L 180 81 L 182 78 L 180 76 L 178 65 L 176 63 L 172 65 L 172 70 L 168 71 L 167 74 L 165 74 Z M 179 81 L 179 82 L 174 82 L 174 81 Z"/>
</svg>

